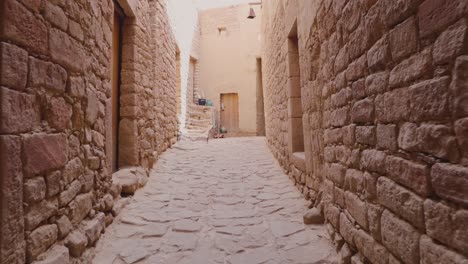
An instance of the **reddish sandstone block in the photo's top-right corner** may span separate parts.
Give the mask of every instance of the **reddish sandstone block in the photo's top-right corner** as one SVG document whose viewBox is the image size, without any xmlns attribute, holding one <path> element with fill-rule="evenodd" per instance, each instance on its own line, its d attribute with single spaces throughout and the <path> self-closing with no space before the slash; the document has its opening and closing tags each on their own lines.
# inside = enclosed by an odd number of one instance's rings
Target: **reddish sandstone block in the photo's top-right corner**
<svg viewBox="0 0 468 264">
<path fill-rule="evenodd" d="M 419 6 L 419 35 L 423 38 L 436 32 L 456 21 L 468 10 L 466 1 L 463 0 L 426 0 Z"/>
</svg>

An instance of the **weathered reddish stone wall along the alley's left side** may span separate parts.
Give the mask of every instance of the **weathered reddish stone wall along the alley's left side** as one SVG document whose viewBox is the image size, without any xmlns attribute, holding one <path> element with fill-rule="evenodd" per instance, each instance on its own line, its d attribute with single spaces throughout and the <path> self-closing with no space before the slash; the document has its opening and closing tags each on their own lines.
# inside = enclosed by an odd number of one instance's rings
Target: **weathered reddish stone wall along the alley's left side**
<svg viewBox="0 0 468 264">
<path fill-rule="evenodd" d="M 177 131 L 175 46 L 162 3 L 138 1 L 124 26 L 121 135 L 124 127 L 130 137 L 121 143 L 134 156 L 122 165 L 150 167 Z M 2 264 L 48 255 L 68 263 L 112 222 L 113 8 L 111 0 L 0 1 Z"/>
</svg>

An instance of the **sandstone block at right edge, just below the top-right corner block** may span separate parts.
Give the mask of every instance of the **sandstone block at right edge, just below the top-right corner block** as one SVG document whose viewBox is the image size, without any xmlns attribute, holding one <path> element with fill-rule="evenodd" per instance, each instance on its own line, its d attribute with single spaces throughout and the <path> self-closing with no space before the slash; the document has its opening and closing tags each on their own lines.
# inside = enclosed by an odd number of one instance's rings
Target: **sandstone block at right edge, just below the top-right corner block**
<svg viewBox="0 0 468 264">
<path fill-rule="evenodd" d="M 432 55 L 436 64 L 452 63 L 466 49 L 467 23 L 466 18 L 460 19 L 440 34 Z"/>
</svg>

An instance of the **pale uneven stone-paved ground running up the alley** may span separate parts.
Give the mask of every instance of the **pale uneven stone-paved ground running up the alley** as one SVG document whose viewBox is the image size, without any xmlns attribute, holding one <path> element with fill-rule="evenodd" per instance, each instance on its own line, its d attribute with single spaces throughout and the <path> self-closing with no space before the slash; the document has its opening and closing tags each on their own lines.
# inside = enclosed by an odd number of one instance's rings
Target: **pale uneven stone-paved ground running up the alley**
<svg viewBox="0 0 468 264">
<path fill-rule="evenodd" d="M 178 143 L 99 241 L 93 263 L 329 263 L 325 226 L 264 138 Z"/>
</svg>

